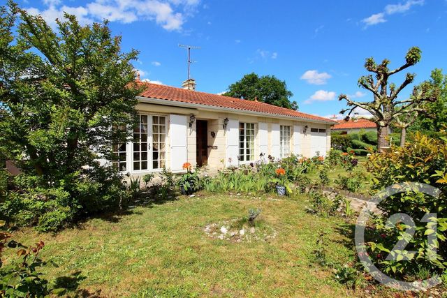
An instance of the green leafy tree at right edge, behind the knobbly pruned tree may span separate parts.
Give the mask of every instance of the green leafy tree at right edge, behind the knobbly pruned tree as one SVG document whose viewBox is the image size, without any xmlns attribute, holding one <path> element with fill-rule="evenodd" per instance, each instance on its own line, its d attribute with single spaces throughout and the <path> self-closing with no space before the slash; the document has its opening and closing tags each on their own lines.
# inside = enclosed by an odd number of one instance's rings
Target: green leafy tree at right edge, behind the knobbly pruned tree
<svg viewBox="0 0 447 298">
<path fill-rule="evenodd" d="M 434 91 L 439 92 L 438 100 L 425 105 L 427 113 L 419 115 L 409 131 L 433 135 L 447 126 L 447 75 L 442 73 L 442 69 L 435 68 L 432 70 L 430 83 Z"/>
</svg>

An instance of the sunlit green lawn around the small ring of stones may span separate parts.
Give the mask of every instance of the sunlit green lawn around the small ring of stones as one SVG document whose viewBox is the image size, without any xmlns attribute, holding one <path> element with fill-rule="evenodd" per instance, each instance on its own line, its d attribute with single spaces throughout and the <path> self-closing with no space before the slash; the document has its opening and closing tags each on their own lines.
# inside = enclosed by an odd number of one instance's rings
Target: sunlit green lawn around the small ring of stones
<svg viewBox="0 0 447 298">
<path fill-rule="evenodd" d="M 328 232 L 329 262 L 353 260 L 351 242 L 339 218 L 307 214 L 305 195 L 208 195 L 181 197 L 137 207 L 128 214 L 92 218 L 56 235 L 32 229 L 15 239 L 45 241 L 42 257 L 51 281 L 71 286 L 69 295 L 106 297 L 344 297 L 353 293 L 317 265 L 318 232 Z M 247 216 L 277 230 L 269 241 L 239 242 L 207 237 L 209 223 Z"/>
</svg>

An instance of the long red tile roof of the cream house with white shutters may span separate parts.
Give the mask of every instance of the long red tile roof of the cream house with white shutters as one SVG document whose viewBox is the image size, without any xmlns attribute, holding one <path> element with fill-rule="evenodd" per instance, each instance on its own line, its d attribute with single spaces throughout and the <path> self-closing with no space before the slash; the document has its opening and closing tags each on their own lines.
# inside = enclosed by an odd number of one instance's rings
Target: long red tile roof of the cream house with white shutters
<svg viewBox="0 0 447 298">
<path fill-rule="evenodd" d="M 193 103 L 198 105 L 210 105 L 212 107 L 226 107 L 233 110 L 261 112 L 264 114 L 274 114 L 279 116 L 297 117 L 300 119 L 309 119 L 314 121 L 323 121 L 327 124 L 335 124 L 336 122 L 327 118 L 305 114 L 294 110 L 289 110 L 276 105 L 260 103 L 258 101 L 243 100 L 217 94 L 209 94 L 166 85 L 151 84 L 145 82 L 147 89 L 140 94 L 146 98 L 164 99 L 170 101 L 178 101 L 181 103 Z"/>
</svg>

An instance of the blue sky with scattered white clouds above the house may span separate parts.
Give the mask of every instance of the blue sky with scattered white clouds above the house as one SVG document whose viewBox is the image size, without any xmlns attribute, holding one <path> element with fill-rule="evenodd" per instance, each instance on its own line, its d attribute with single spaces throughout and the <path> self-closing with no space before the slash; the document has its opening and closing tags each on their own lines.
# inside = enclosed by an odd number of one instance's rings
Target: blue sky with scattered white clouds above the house
<svg viewBox="0 0 447 298">
<path fill-rule="evenodd" d="M 1 0 L 6 2 L 4 0 Z M 409 71 L 416 83 L 433 68 L 447 73 L 447 1 L 207 1 L 18 0 L 49 22 L 66 10 L 84 23 L 110 20 L 123 50 L 140 50 L 142 78 L 179 87 L 186 79 L 186 50 L 198 91 L 220 93 L 251 72 L 285 80 L 300 111 L 328 116 L 344 107 L 341 93 L 371 100 L 357 87 L 366 57 L 404 63 L 413 45 L 423 50 Z M 54 24 L 54 22 L 53 22 Z M 393 81 L 399 84 L 401 76 Z M 407 87 L 402 93 L 411 93 Z M 362 112 L 360 112 L 362 114 Z"/>
</svg>

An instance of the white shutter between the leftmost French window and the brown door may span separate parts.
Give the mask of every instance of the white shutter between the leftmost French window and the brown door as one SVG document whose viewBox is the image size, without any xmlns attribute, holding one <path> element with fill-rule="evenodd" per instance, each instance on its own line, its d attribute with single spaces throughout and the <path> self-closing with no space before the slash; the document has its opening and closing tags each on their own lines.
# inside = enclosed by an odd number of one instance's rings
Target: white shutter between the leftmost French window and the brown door
<svg viewBox="0 0 447 298">
<path fill-rule="evenodd" d="M 170 114 L 170 170 L 183 170 L 183 163 L 188 161 L 187 119 L 183 115 Z"/>
</svg>

